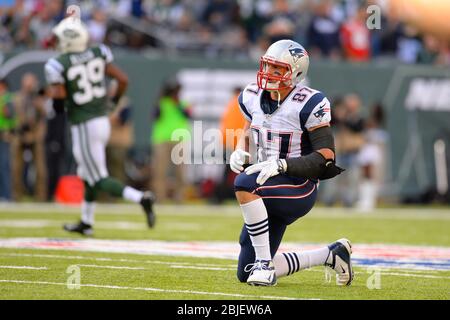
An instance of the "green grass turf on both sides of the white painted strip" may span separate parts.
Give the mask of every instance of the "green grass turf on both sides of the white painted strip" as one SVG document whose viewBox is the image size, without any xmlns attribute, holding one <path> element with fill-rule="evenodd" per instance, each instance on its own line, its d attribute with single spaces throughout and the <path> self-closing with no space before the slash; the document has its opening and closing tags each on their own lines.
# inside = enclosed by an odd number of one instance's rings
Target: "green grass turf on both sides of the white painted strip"
<svg viewBox="0 0 450 320">
<path fill-rule="evenodd" d="M 242 226 L 238 208 L 227 206 L 159 207 L 154 230 L 145 228 L 143 215 L 132 207 L 98 211 L 99 239 L 237 241 Z M 2 209 L 0 238 L 79 238 L 61 229 L 78 217 L 77 210 L 57 207 Z M 450 246 L 448 230 L 445 210 L 384 209 L 365 215 L 316 208 L 290 226 L 284 239 L 327 243 L 345 236 L 354 243 Z M 449 299 L 450 292 L 448 271 L 383 270 L 381 288 L 370 290 L 366 284 L 373 275 L 365 268 L 355 268 L 352 286 L 337 287 L 325 281 L 324 268 L 316 267 L 281 278 L 276 287 L 254 288 L 236 280 L 233 260 L 1 248 L 0 261 L 6 267 L 45 268 L 0 268 L 0 299 Z M 67 287 L 72 265 L 80 270 L 78 290 Z"/>
</svg>

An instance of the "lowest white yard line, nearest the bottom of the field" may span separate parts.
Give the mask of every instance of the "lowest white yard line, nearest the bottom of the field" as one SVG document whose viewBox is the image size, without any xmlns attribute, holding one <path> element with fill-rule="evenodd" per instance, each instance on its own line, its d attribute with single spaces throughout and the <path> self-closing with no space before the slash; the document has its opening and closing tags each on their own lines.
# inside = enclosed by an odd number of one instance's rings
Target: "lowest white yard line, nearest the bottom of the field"
<svg viewBox="0 0 450 320">
<path fill-rule="evenodd" d="M 11 280 L 11 279 L 1 279 L 0 283 L 67 286 L 67 283 L 64 283 L 64 282 L 25 281 L 25 280 Z M 297 299 L 297 298 L 293 298 L 293 297 L 281 297 L 281 296 L 257 296 L 257 295 L 246 295 L 246 294 L 226 293 L 226 292 L 207 292 L 207 291 L 193 291 L 193 290 L 168 290 L 168 289 L 160 289 L 160 288 L 124 287 L 124 286 L 98 285 L 98 284 L 80 284 L 80 287 L 102 288 L 102 289 L 117 289 L 117 290 L 136 290 L 136 291 L 164 292 L 164 293 L 183 293 L 183 294 L 204 295 L 204 296 L 213 295 L 213 296 L 224 296 L 224 297 L 235 297 L 235 298 L 249 298 L 249 299 L 320 300 L 320 299 L 315 299 L 315 298 L 311 298 L 311 299 Z"/>
</svg>

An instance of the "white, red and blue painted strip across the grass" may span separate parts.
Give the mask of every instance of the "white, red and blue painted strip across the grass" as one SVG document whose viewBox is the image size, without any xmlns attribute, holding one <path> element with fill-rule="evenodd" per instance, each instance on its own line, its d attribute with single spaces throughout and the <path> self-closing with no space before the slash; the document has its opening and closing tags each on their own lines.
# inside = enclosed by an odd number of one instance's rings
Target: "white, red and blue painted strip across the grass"
<svg viewBox="0 0 450 320">
<path fill-rule="evenodd" d="M 325 244 L 286 242 L 279 252 L 291 252 L 302 248 L 314 250 Z M 203 241 L 151 241 L 151 240 L 99 240 L 99 239 L 48 239 L 48 238 L 7 238 L 0 239 L 0 248 L 57 249 L 75 251 L 136 253 L 147 255 L 190 256 L 199 258 L 237 259 L 239 244 L 234 242 L 213 243 Z M 355 266 L 378 270 L 417 269 L 450 270 L 450 247 L 405 246 L 387 244 L 353 245 L 352 262 Z M 72 267 L 72 268 L 71 268 Z M 71 266 L 67 273 L 71 285 L 79 284 L 80 272 Z M 334 272 L 333 272 L 334 273 Z M 333 273 L 331 275 L 333 275 Z M 78 278 L 77 278 L 78 277 Z M 376 277 L 373 279 L 376 285 Z M 78 279 L 78 280 L 77 280 Z"/>
</svg>

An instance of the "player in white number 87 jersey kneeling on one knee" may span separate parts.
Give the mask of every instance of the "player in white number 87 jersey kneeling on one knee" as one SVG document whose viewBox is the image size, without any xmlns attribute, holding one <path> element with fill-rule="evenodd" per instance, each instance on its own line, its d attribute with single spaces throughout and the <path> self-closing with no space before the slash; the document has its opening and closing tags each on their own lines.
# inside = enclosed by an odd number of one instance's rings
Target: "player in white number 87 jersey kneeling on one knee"
<svg viewBox="0 0 450 320">
<path fill-rule="evenodd" d="M 235 193 L 245 223 L 237 276 L 250 285 L 273 286 L 279 277 L 318 265 L 334 269 L 338 285 L 353 280 L 347 239 L 317 250 L 277 253 L 286 227 L 314 206 L 319 180 L 343 171 L 334 160 L 330 102 L 301 83 L 308 66 L 300 44 L 277 41 L 260 59 L 257 84 L 238 98 L 257 151 L 256 164 L 244 170 L 250 153 L 242 137 L 230 157 L 231 169 L 239 173 Z"/>
</svg>

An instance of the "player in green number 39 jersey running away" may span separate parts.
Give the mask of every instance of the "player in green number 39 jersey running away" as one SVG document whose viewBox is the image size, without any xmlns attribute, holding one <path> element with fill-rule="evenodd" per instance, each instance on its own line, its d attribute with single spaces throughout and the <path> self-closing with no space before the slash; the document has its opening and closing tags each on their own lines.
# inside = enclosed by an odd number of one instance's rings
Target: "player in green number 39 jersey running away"
<svg viewBox="0 0 450 320">
<path fill-rule="evenodd" d="M 107 98 L 105 80 L 110 77 L 117 81 L 118 89 L 112 98 L 117 104 L 127 88 L 127 75 L 113 63 L 113 55 L 107 46 L 88 47 L 88 31 L 79 18 L 67 17 L 52 31 L 60 54 L 45 64 L 45 75 L 55 111 L 67 110 L 77 174 L 85 186 L 81 221 L 66 224 L 64 229 L 83 235 L 93 234 L 98 191 L 139 203 L 148 226 L 153 227 L 153 193 L 123 185 L 109 176 L 106 167 L 105 148 L 111 130 L 107 113 L 111 102 Z"/>
</svg>

